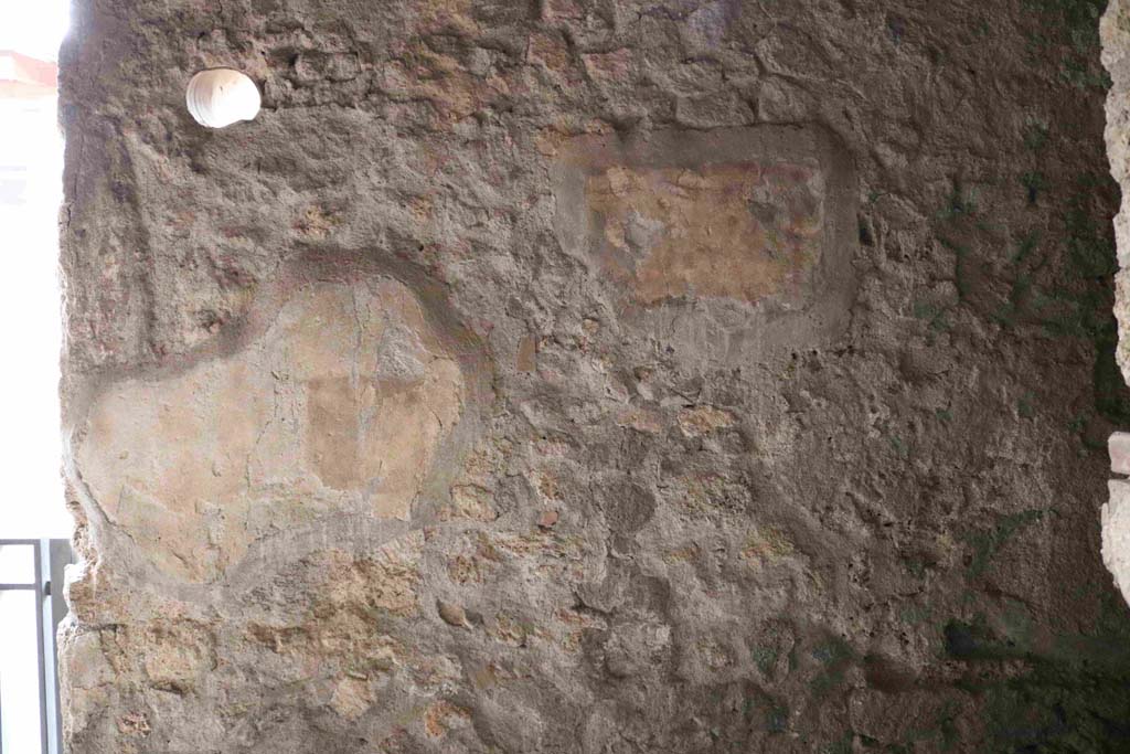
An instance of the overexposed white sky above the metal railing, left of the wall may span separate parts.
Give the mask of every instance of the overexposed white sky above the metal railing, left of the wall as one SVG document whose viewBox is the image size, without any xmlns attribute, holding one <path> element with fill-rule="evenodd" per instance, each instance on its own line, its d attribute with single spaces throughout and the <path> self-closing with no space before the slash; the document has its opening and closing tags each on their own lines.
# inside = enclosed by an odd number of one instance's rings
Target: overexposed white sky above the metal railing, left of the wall
<svg viewBox="0 0 1130 754">
<path fill-rule="evenodd" d="M 68 0 L 0 0 L 0 79 L 12 76 L 6 51 L 56 61 L 68 11 Z M 53 93 L 0 88 L 0 538 L 71 530 L 58 398 L 62 162 Z"/>
</svg>

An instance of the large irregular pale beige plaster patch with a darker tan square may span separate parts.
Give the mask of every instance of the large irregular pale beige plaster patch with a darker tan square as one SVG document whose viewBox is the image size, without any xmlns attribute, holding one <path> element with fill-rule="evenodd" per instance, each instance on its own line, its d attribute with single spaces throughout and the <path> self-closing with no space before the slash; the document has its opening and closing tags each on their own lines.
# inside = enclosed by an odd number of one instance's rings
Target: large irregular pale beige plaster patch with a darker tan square
<svg viewBox="0 0 1130 754">
<path fill-rule="evenodd" d="M 210 580 L 327 512 L 407 519 L 463 393 L 402 284 L 311 283 L 235 355 L 112 385 L 76 460 L 158 566 Z"/>
</svg>

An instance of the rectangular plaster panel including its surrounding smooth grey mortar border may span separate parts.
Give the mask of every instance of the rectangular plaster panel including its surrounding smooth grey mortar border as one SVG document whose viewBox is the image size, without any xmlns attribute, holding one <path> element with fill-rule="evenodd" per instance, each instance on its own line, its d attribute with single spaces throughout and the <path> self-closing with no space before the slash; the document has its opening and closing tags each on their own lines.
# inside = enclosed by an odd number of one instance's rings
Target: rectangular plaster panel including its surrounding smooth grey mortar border
<svg viewBox="0 0 1130 754">
<path fill-rule="evenodd" d="M 820 130 L 579 137 L 554 179 L 563 250 L 629 321 L 681 320 L 684 337 L 745 344 L 737 357 L 845 321 L 855 196 Z"/>
</svg>

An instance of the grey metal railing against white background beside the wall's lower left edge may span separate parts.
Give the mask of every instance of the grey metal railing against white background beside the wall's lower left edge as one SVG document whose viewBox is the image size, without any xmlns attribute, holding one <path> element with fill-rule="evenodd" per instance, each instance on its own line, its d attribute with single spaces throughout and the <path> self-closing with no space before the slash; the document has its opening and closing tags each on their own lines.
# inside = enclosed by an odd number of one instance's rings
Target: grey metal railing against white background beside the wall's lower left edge
<svg viewBox="0 0 1130 754">
<path fill-rule="evenodd" d="M 62 754 L 55 631 L 71 562 L 66 539 L 0 539 L 0 754 Z"/>
</svg>

